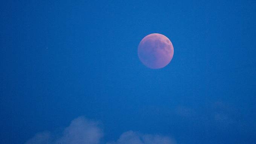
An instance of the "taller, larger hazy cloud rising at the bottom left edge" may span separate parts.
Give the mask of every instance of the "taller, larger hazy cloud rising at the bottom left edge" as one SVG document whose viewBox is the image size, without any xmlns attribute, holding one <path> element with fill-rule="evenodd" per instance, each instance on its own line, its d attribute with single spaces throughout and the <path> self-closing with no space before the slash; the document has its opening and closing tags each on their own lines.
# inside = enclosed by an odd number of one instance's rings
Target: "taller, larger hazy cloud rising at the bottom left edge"
<svg viewBox="0 0 256 144">
<path fill-rule="evenodd" d="M 61 136 L 49 132 L 38 133 L 25 144 L 99 144 L 102 136 L 98 123 L 78 117 L 71 121 Z"/>
</svg>

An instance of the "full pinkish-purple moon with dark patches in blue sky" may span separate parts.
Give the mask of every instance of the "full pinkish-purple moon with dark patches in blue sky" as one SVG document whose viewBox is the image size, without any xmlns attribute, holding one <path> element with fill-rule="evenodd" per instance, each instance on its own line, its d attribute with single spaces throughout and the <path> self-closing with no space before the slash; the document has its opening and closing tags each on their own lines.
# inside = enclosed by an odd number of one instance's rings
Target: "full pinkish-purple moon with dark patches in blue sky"
<svg viewBox="0 0 256 144">
<path fill-rule="evenodd" d="M 172 42 L 165 35 L 151 33 L 145 36 L 138 46 L 140 61 L 149 68 L 158 69 L 168 65 L 173 57 Z"/>
</svg>

